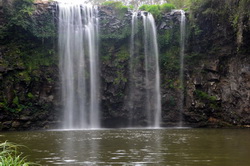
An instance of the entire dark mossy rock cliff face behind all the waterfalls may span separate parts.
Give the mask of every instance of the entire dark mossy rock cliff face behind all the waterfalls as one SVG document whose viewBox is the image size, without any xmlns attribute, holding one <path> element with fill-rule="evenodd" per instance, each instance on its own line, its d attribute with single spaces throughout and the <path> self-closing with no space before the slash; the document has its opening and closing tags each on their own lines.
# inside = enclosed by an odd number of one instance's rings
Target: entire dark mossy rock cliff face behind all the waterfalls
<svg viewBox="0 0 250 166">
<path fill-rule="evenodd" d="M 185 125 L 250 124 L 250 21 L 247 13 L 235 12 L 240 2 L 204 3 L 187 14 L 184 89 L 179 78 L 181 15 L 157 16 L 163 126 L 179 123 L 183 91 Z M 5 16 L 0 18 L 0 27 L 5 27 L 0 30 L 0 129 L 53 128 L 61 119 L 56 6 L 38 1 L 30 4 L 30 14 L 5 4 L 0 15 Z M 209 10 L 214 6 L 217 13 Z M 125 127 L 131 118 L 126 102 L 132 13 L 109 6 L 99 9 L 102 123 Z M 145 103 L 135 99 L 142 102 L 133 118 L 143 125 Z"/>
</svg>

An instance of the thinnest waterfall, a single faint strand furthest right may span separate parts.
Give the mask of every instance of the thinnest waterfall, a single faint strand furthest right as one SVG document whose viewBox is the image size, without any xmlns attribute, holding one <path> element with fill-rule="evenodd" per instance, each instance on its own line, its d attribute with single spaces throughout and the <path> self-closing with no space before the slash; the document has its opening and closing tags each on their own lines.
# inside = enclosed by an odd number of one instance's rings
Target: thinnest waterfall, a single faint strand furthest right
<svg viewBox="0 0 250 166">
<path fill-rule="evenodd" d="M 181 24 L 180 24 L 180 102 L 179 102 L 179 109 L 180 109 L 180 124 L 179 126 L 182 127 L 182 113 L 184 107 L 184 56 L 185 56 L 185 30 L 186 30 L 186 15 L 183 10 L 179 10 L 181 13 Z"/>
</svg>

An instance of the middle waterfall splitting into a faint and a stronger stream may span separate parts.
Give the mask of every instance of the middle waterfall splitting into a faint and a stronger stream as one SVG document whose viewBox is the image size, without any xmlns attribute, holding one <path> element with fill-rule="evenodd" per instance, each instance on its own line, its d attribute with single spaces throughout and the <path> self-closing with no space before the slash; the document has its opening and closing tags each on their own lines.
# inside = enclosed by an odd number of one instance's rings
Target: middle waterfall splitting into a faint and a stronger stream
<svg viewBox="0 0 250 166">
<path fill-rule="evenodd" d="M 142 25 L 143 25 L 143 39 L 139 38 L 138 14 L 141 14 Z M 138 48 L 138 42 L 143 44 L 144 54 L 144 78 L 139 80 L 144 81 L 144 94 L 140 92 L 138 83 L 135 81 L 136 77 L 140 75 L 138 66 L 136 64 L 140 57 L 140 50 Z M 151 13 L 148 12 L 134 12 L 132 15 L 132 32 L 131 32 L 131 43 L 130 43 L 130 94 L 129 94 L 129 105 L 132 109 L 130 115 L 133 116 L 137 111 L 136 101 L 134 96 L 140 93 L 141 101 L 144 103 L 144 109 L 146 112 L 146 120 L 148 127 L 160 127 L 161 122 L 161 95 L 160 95 L 160 70 L 159 70 L 159 51 L 157 43 L 157 33 L 155 20 Z M 133 117 L 132 117 L 133 118 Z"/>
</svg>

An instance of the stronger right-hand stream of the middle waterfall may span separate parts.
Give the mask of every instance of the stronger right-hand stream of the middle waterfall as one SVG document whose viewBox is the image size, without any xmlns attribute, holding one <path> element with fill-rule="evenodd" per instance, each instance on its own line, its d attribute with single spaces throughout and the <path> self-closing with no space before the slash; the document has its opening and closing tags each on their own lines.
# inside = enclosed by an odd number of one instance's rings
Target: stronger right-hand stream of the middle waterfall
<svg viewBox="0 0 250 166">
<path fill-rule="evenodd" d="M 147 89 L 146 92 L 147 117 L 153 127 L 159 127 L 161 121 L 161 96 L 156 26 L 151 13 L 143 12 L 142 18 L 144 26 L 146 89 L 152 86 L 152 90 Z"/>
</svg>

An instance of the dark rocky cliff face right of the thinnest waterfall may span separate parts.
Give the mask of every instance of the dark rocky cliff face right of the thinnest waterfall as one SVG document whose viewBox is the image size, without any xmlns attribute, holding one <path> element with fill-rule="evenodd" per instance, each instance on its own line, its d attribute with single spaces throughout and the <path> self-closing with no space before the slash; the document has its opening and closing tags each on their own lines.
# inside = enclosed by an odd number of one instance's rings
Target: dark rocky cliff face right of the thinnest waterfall
<svg viewBox="0 0 250 166">
<path fill-rule="evenodd" d="M 201 126 L 249 125 L 250 17 L 245 9 L 250 4 L 208 3 L 192 13 L 185 120 Z"/>
</svg>

